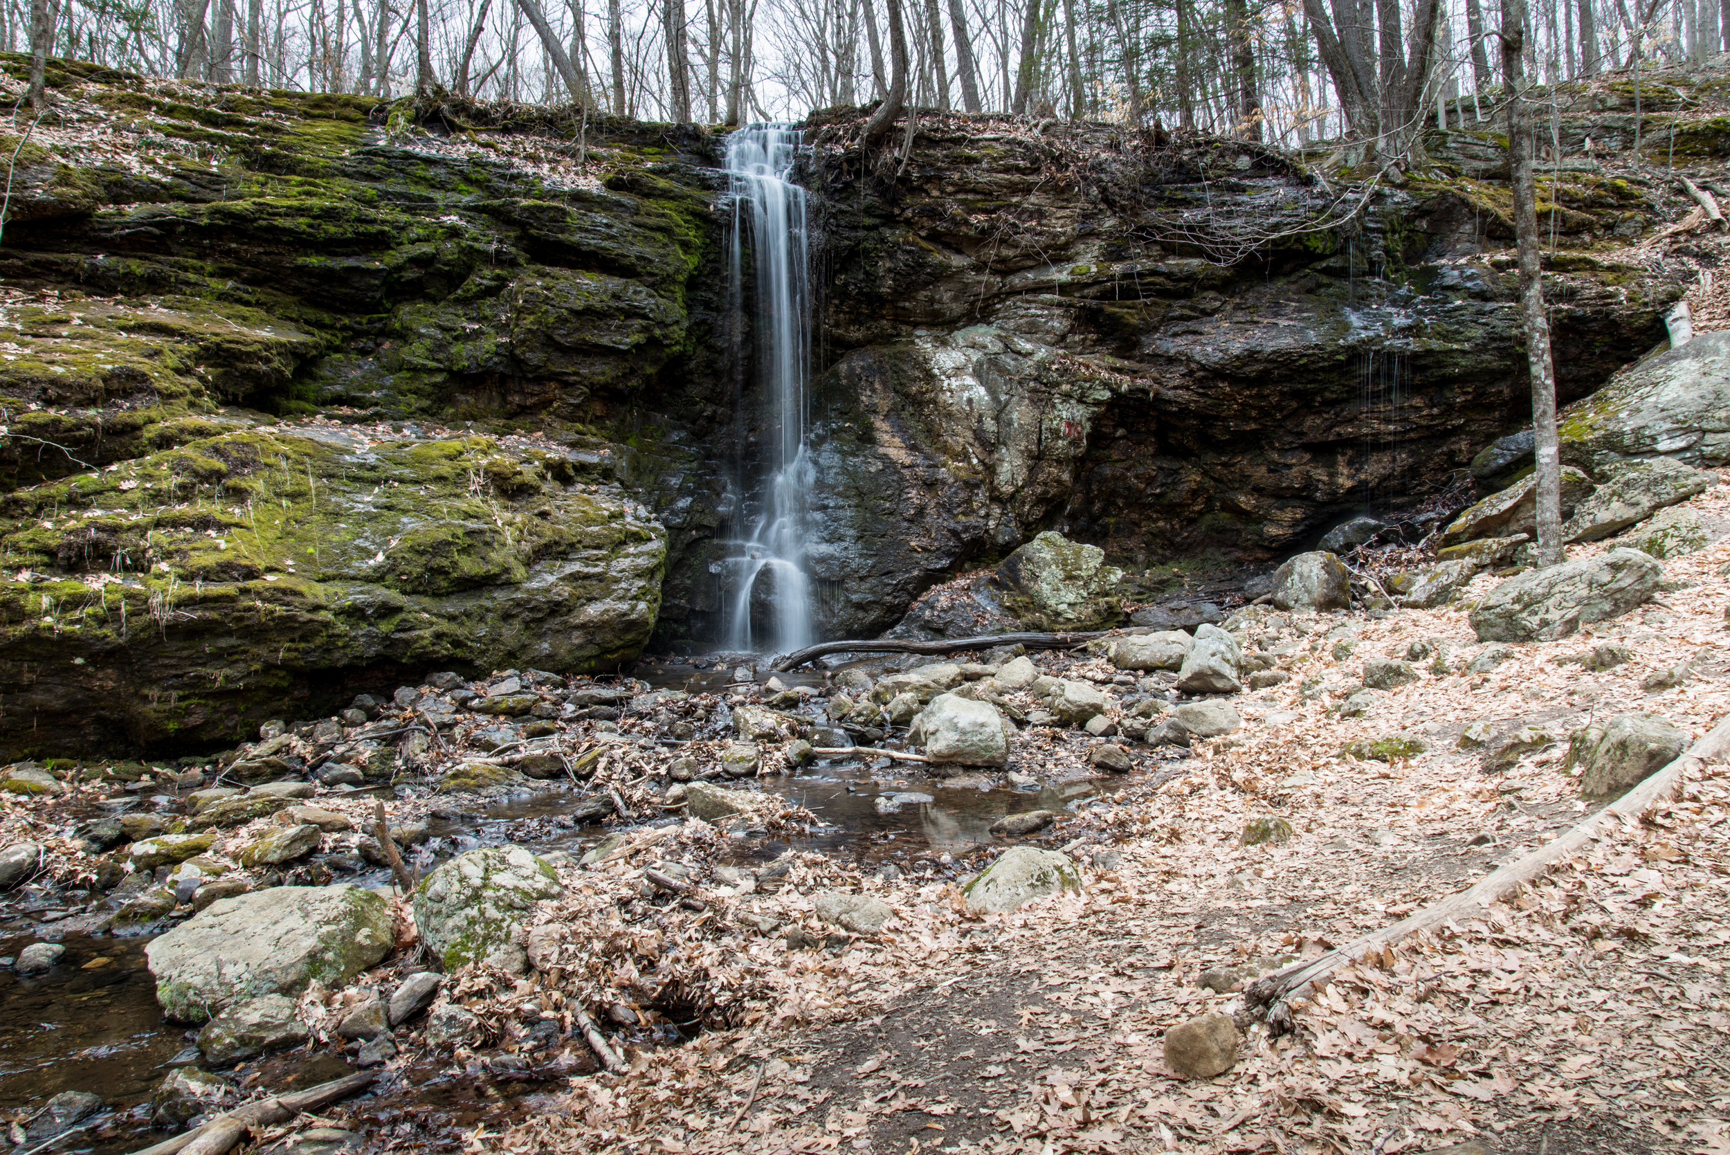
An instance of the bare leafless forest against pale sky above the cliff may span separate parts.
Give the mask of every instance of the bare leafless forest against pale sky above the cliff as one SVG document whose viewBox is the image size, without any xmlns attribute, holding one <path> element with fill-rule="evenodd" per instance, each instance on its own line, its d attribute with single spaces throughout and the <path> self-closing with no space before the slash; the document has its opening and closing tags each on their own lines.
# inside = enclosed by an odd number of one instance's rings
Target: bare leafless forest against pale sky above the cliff
<svg viewBox="0 0 1730 1155">
<path fill-rule="evenodd" d="M 1721 7 L 1720 7 L 1721 5 Z M 1490 119 L 1483 0 L 5 0 L 0 47 L 149 76 L 680 123 L 879 100 L 1284 147 Z M 1730 0 L 1540 0 L 1526 76 L 1702 62 Z M 1451 118 L 1451 119 L 1450 119 Z"/>
</svg>

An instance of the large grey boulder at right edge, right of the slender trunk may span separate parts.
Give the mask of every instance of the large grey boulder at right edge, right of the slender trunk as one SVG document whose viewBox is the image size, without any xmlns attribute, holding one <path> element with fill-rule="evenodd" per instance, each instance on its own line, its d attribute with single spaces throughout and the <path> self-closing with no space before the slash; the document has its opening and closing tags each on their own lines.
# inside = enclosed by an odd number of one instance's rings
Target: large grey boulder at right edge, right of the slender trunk
<svg viewBox="0 0 1730 1155">
<path fill-rule="evenodd" d="M 1701 334 L 1631 365 L 1559 415 L 1562 462 L 1607 465 L 1673 456 L 1730 462 L 1730 330 Z"/>
</svg>

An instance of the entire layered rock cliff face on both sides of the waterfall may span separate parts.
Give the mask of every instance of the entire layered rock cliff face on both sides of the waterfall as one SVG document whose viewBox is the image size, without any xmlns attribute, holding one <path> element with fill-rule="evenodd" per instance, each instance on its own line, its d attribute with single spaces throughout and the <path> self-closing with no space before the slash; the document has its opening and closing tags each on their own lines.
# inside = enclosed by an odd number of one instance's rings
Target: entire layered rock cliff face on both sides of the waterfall
<svg viewBox="0 0 1730 1155">
<path fill-rule="evenodd" d="M 766 431 L 714 133 L 90 76 L 50 69 L 0 247 L 0 756 L 716 636 Z M 934 114 L 891 171 L 858 124 L 813 121 L 806 171 L 827 635 L 1041 529 L 1137 567 L 1291 553 L 1519 424 L 1488 137 L 1372 187 Z M 1585 252 L 1652 228 L 1654 188 L 1550 195 L 1569 399 L 1680 289 Z"/>
</svg>

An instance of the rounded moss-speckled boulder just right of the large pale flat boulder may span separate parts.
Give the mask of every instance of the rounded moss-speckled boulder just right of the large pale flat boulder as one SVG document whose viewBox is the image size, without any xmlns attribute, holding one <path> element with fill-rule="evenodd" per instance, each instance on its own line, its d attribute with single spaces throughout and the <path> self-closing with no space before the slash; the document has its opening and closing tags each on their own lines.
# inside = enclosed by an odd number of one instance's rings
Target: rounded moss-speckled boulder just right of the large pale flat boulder
<svg viewBox="0 0 1730 1155">
<path fill-rule="evenodd" d="M 450 859 L 415 890 L 415 927 L 445 970 L 490 963 L 528 968 L 522 927 L 541 899 L 564 894 L 552 863 L 521 846 L 469 851 Z"/>
</svg>

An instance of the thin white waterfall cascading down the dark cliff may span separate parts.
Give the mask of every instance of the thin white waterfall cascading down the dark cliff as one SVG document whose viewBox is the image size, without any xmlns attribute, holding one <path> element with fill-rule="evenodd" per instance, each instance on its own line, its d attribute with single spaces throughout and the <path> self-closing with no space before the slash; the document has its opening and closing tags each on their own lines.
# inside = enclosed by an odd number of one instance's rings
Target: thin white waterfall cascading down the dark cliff
<svg viewBox="0 0 1730 1155">
<path fill-rule="evenodd" d="M 792 183 L 801 131 L 792 124 L 751 124 L 727 138 L 734 192 L 728 277 L 735 316 L 744 316 L 744 254 L 751 252 L 756 301 L 753 344 L 756 384 L 768 437 L 759 469 L 759 508 L 747 503 L 735 543 L 728 647 L 796 650 L 811 643 L 806 576 L 808 495 L 817 479 L 806 451 L 806 382 L 811 361 L 810 239 L 804 188 Z M 749 420 L 747 420 L 749 424 Z M 749 489 L 749 486 L 742 486 Z M 763 629 L 753 628 L 756 616 Z"/>
</svg>

